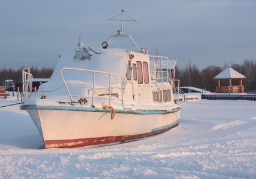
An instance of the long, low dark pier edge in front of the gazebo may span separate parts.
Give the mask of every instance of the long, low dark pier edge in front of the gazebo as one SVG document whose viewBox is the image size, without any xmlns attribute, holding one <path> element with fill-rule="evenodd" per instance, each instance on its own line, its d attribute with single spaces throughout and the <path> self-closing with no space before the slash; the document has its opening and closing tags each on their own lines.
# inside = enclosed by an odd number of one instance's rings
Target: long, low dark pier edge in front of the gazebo
<svg viewBox="0 0 256 179">
<path fill-rule="evenodd" d="M 202 94 L 206 100 L 249 100 L 256 101 L 256 94 Z"/>
</svg>

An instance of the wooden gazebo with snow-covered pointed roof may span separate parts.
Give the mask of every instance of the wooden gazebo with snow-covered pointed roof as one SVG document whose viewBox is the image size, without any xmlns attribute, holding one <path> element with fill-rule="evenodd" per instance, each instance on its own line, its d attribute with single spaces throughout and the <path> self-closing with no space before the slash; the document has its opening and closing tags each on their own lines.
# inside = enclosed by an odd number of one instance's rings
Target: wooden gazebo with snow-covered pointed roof
<svg viewBox="0 0 256 179">
<path fill-rule="evenodd" d="M 243 79 L 246 77 L 243 76 L 241 73 L 237 72 L 234 69 L 231 69 L 231 67 L 228 67 L 223 72 L 221 72 L 219 75 L 215 76 L 214 79 L 218 80 L 218 86 L 216 87 L 216 92 L 218 93 L 240 93 L 244 92 L 243 87 Z M 221 79 L 228 79 L 228 86 L 222 86 L 221 87 Z M 239 85 L 232 86 L 232 79 L 240 79 Z"/>
</svg>

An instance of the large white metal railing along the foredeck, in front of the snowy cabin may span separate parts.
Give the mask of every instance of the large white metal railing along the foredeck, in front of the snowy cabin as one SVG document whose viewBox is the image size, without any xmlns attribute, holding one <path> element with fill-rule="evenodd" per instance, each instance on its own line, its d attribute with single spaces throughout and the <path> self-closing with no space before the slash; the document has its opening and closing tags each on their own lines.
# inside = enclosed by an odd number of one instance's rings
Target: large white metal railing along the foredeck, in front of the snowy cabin
<svg viewBox="0 0 256 179">
<path fill-rule="evenodd" d="M 77 71 L 83 71 L 83 72 L 89 72 L 89 73 L 92 73 L 92 83 L 88 83 L 88 82 L 68 82 L 68 81 L 65 81 L 64 77 L 63 77 L 63 74 L 62 74 L 62 71 L 63 70 L 77 70 Z M 96 74 L 103 74 L 103 75 L 107 75 L 108 76 L 108 81 L 105 83 L 105 84 L 96 84 L 95 81 L 96 81 Z M 69 95 L 69 98 L 71 100 L 71 102 L 73 102 L 73 99 L 72 97 L 80 97 L 80 98 L 92 98 L 92 106 L 94 106 L 95 104 L 95 98 L 106 98 L 104 97 L 104 95 L 96 95 L 96 90 L 100 91 L 100 90 L 108 90 L 108 103 L 109 103 L 109 106 L 110 106 L 110 101 L 111 100 L 118 100 L 118 101 L 121 101 L 122 105 L 123 105 L 123 101 L 124 101 L 124 90 L 126 88 L 126 83 L 127 83 L 127 78 L 126 76 L 122 76 L 122 75 L 117 75 L 117 74 L 114 74 L 114 73 L 108 73 L 108 72 L 100 72 L 100 71 L 96 71 L 96 70 L 87 70 L 87 69 L 77 69 L 77 68 L 69 68 L 69 67 L 63 67 L 61 70 L 60 70 L 60 76 L 62 77 L 62 80 L 63 80 L 63 83 L 66 87 L 66 90 L 68 91 L 68 95 Z M 114 86 L 114 85 L 111 85 L 111 78 L 115 76 L 115 77 L 118 77 L 120 78 L 121 80 L 121 87 L 117 87 L 117 86 Z M 87 88 L 90 89 L 90 91 L 92 91 L 92 95 L 72 95 L 70 90 L 69 90 L 69 87 L 68 87 L 68 84 L 74 84 L 74 85 L 86 85 Z M 118 98 L 112 98 L 111 97 L 111 91 L 113 89 L 119 89 L 121 90 L 121 99 L 120 97 L 118 96 Z M 84 90 L 86 90 L 84 88 Z"/>
</svg>

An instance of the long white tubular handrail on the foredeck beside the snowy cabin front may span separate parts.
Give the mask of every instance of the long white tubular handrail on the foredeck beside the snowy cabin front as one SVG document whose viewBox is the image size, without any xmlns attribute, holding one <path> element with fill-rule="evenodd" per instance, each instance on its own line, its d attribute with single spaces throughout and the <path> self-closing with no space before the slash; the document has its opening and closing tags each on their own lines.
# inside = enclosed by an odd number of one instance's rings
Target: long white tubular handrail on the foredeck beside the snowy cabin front
<svg viewBox="0 0 256 179">
<path fill-rule="evenodd" d="M 92 79 L 92 84 L 90 83 L 85 83 L 85 82 L 67 82 L 65 81 L 64 77 L 63 77 L 63 74 L 62 74 L 62 71 L 63 70 L 78 70 L 78 71 L 84 71 L 84 72 L 92 72 L 93 73 L 93 79 Z M 101 85 L 101 84 L 95 84 L 95 74 L 96 73 L 101 73 L 101 74 L 105 74 L 105 75 L 108 75 L 109 76 L 109 80 L 108 80 L 108 85 Z M 66 90 L 68 91 L 68 95 L 69 95 L 69 98 L 71 100 L 71 102 L 73 102 L 72 100 L 72 97 L 82 97 L 82 96 L 78 96 L 78 95 L 72 95 L 71 92 L 69 91 L 69 88 L 68 88 L 68 85 L 67 84 L 77 84 L 77 85 L 90 85 L 92 86 L 92 97 L 89 97 L 89 98 L 92 98 L 92 106 L 94 106 L 94 103 L 95 103 L 95 98 L 103 98 L 103 97 L 95 97 L 95 87 L 108 87 L 108 103 L 109 103 L 109 106 L 110 106 L 110 101 L 111 100 L 118 100 L 118 101 L 121 101 L 122 102 L 122 105 L 123 105 L 123 96 L 124 96 L 124 90 L 126 88 L 126 83 L 127 83 L 127 78 L 126 76 L 123 76 L 123 75 L 118 75 L 118 74 L 115 74 L 115 73 L 108 73 L 108 72 L 101 72 L 101 71 L 97 71 L 97 70 L 87 70 L 87 69 L 77 69 L 77 68 L 71 68 L 71 67 L 63 67 L 61 70 L 60 70 L 60 76 L 62 77 L 62 80 L 63 80 L 63 83 L 66 87 Z M 121 78 L 121 87 L 114 87 L 114 86 L 111 86 L 111 76 L 118 76 Z M 106 82 L 107 83 L 107 82 Z M 119 99 L 114 99 L 114 98 L 111 98 L 111 91 L 113 88 L 117 88 L 117 89 L 120 89 L 121 90 L 121 100 Z M 107 89 L 106 89 L 107 90 Z M 88 98 L 88 97 L 87 97 Z"/>
</svg>

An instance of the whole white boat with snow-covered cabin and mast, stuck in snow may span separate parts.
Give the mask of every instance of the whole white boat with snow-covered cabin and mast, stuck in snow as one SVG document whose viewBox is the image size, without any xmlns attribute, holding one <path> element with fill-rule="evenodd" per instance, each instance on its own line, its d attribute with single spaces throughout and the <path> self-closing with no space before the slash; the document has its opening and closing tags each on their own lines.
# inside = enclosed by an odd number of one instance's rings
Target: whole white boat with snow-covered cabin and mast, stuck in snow
<svg viewBox="0 0 256 179">
<path fill-rule="evenodd" d="M 33 119 L 45 148 L 121 143 L 179 125 L 181 106 L 173 98 L 169 58 L 139 48 L 124 35 L 123 9 L 119 15 L 117 35 L 99 48 L 86 47 L 80 36 L 75 51 L 60 54 L 50 80 L 36 94 L 29 67 L 23 70 L 20 109 Z M 129 38 L 138 52 L 108 48 L 116 37 Z"/>
</svg>

